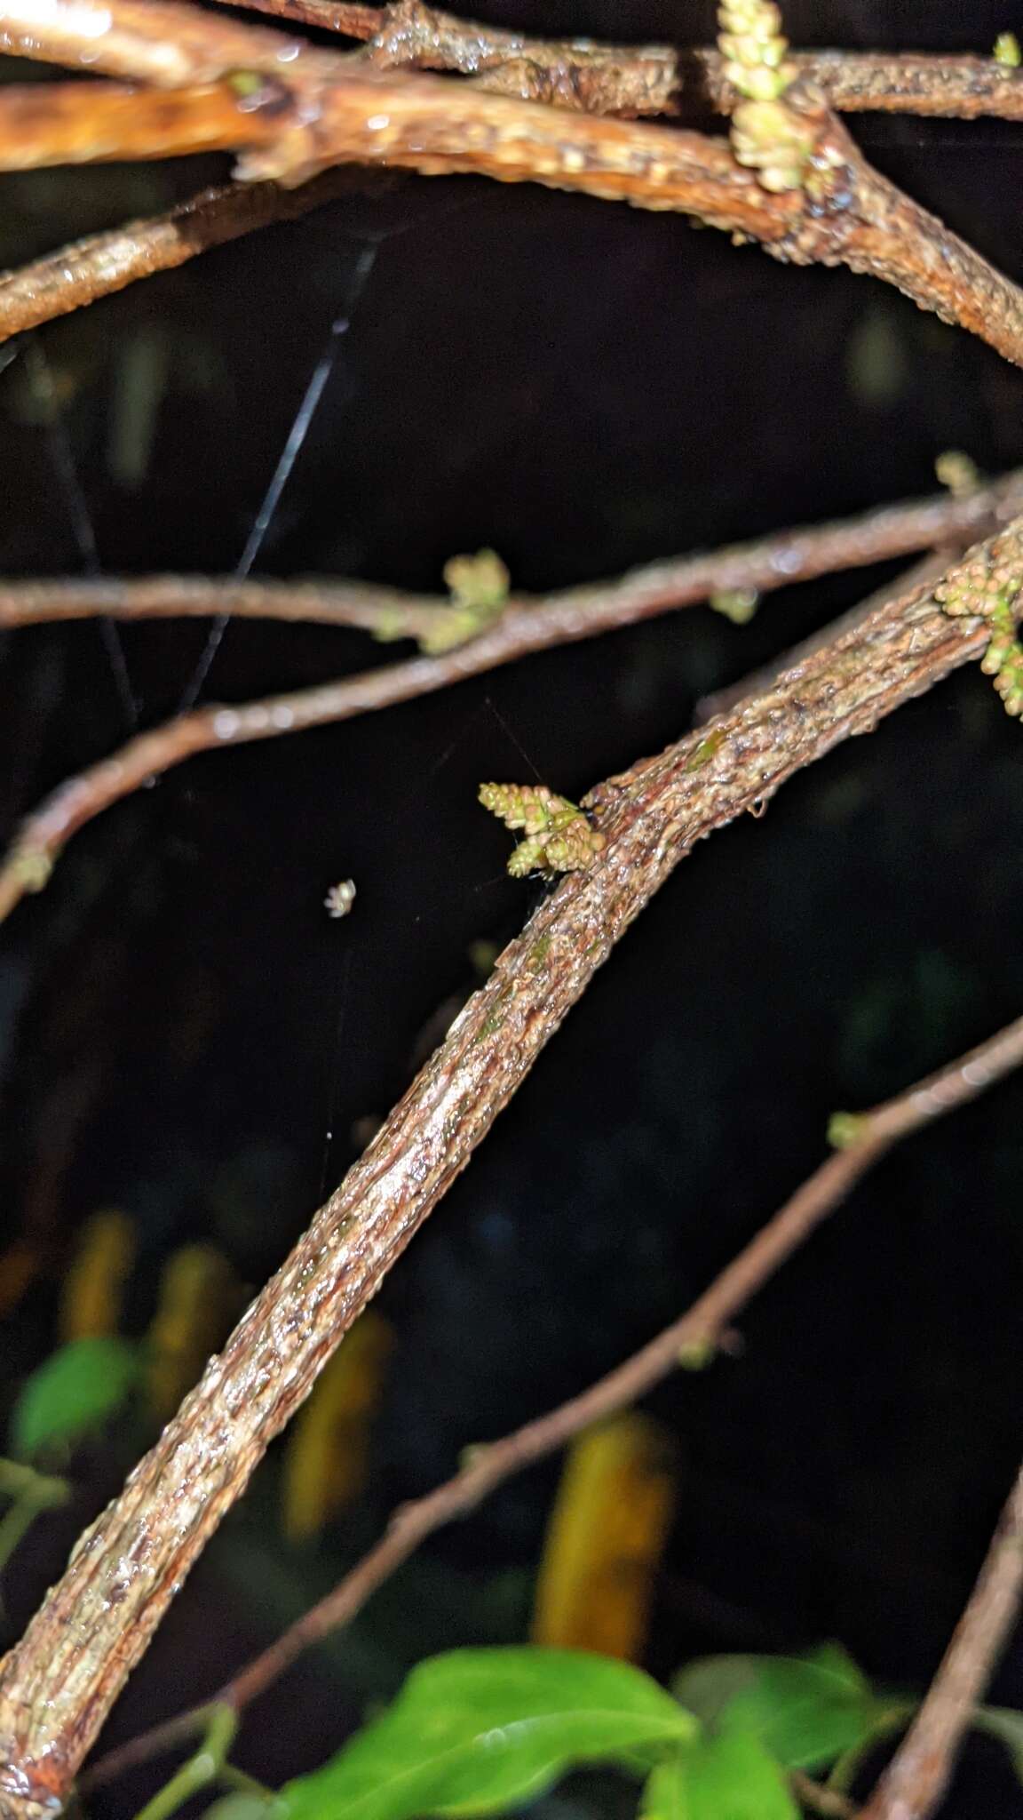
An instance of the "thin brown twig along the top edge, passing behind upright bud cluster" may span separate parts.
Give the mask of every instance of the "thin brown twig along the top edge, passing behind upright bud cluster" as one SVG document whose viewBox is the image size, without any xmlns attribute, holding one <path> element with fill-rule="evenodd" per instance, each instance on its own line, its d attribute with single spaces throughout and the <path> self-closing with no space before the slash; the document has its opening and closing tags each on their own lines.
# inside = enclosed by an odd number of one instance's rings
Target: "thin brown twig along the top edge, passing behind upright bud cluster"
<svg viewBox="0 0 1023 1820">
<path fill-rule="evenodd" d="M 229 0 L 218 0 L 228 5 Z M 455 18 L 422 0 L 349 5 L 346 0 L 242 0 L 249 11 L 368 40 L 382 66 L 450 69 L 522 100 L 582 113 L 677 115 L 695 102 L 732 113 L 737 93 L 715 49 L 672 44 L 588 44 L 530 38 Z M 837 113 L 883 111 L 977 120 L 1023 120 L 1023 71 L 996 56 L 792 51 L 797 73 Z"/>
</svg>

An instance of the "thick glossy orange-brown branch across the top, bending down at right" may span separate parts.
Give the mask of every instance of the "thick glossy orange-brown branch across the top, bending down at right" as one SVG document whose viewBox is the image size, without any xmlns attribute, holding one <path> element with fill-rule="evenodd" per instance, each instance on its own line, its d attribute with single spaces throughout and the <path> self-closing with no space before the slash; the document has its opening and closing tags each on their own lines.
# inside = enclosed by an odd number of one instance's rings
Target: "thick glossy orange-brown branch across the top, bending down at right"
<svg viewBox="0 0 1023 1820">
<path fill-rule="evenodd" d="M 428 177 L 475 173 L 499 182 L 539 182 L 637 207 L 675 209 L 759 240 L 781 260 L 872 273 L 1023 364 L 1023 293 L 872 171 L 812 87 L 795 84 L 786 91 L 786 106 L 803 115 L 814 146 L 806 182 L 801 189 L 768 193 L 726 144 L 699 133 L 593 115 L 566 120 L 559 107 L 488 95 L 473 84 L 379 71 L 357 56 L 209 20 L 171 0 L 13 0 L 0 18 L 7 20 L 13 49 L 27 46 L 66 62 L 76 56 L 115 75 L 144 76 L 155 69 L 149 80 L 173 75 L 204 86 L 237 84 L 238 71 L 251 75 L 257 87 L 249 93 L 244 86 L 238 95 L 237 135 L 228 133 L 222 142 L 224 149 L 238 142 L 249 147 L 242 177 L 300 182 L 331 164 L 382 164 Z M 220 27 L 220 36 L 209 25 Z M 164 35 L 177 46 L 169 62 L 157 55 Z M 16 131 L 4 127 L 0 96 L 0 167 L 13 162 L 22 169 L 33 157 L 29 138 L 40 162 L 53 157 L 46 95 L 40 89 L 35 100 L 40 109 L 35 135 L 25 135 L 22 120 Z M 157 155 L 144 151 L 146 131 L 140 96 L 129 129 L 133 157 Z M 208 135 L 204 120 L 206 147 Z M 164 142 L 160 118 L 153 124 L 153 144 Z M 96 136 L 95 155 L 118 155 L 109 126 Z M 78 144 L 75 157 L 87 157 L 87 147 Z"/>
</svg>

